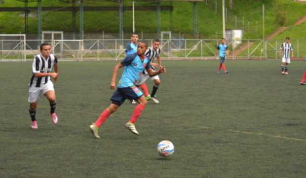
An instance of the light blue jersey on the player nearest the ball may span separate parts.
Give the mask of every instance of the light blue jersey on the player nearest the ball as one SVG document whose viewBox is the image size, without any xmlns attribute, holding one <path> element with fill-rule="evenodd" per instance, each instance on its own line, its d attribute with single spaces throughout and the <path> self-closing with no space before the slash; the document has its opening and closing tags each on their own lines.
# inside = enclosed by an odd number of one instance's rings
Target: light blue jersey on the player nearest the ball
<svg viewBox="0 0 306 178">
<path fill-rule="evenodd" d="M 125 67 L 121 79 L 118 82 L 118 88 L 134 86 L 140 80 L 144 69 L 151 68 L 150 60 L 145 56 L 145 59 L 142 61 L 136 53 L 127 55 L 121 61 L 121 64 Z"/>
</svg>

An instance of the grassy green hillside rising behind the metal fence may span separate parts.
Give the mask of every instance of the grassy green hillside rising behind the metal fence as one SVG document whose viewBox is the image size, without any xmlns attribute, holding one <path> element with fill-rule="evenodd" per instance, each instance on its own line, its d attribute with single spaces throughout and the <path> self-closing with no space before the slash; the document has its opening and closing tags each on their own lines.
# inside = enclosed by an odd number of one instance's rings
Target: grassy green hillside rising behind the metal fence
<svg viewBox="0 0 306 178">
<path fill-rule="evenodd" d="M 262 4 L 266 7 L 265 33 L 270 34 L 278 27 L 291 26 L 296 20 L 306 14 L 306 4 L 296 3 L 293 0 L 233 0 L 233 9 L 228 10 L 227 29 L 244 29 L 244 38 L 257 39 L 262 37 Z M 0 7 L 22 7 L 23 2 L 17 0 L 5 0 Z M 114 2 L 87 2 L 85 6 L 117 6 Z M 131 6 L 130 0 L 124 1 L 125 6 Z M 137 11 L 138 6 L 147 6 L 156 3 L 148 1 L 136 1 L 135 28 L 137 32 L 156 34 L 157 32 L 157 10 Z M 171 2 L 162 2 L 162 5 L 171 5 Z M 218 12 L 215 13 L 215 0 L 208 0 L 197 4 L 197 27 L 201 38 L 219 38 L 222 32 L 222 0 L 218 0 Z M 29 3 L 36 7 L 37 2 Z M 59 0 L 43 0 L 42 6 L 71 6 Z M 162 11 L 161 30 L 183 33 L 185 37 L 193 37 L 191 2 L 173 2 L 173 13 Z M 228 6 L 228 3 L 227 3 Z M 35 14 L 35 12 L 33 12 Z M 235 16 L 237 21 L 235 21 Z M 78 26 L 78 13 L 77 13 Z M 85 33 L 118 33 L 118 12 L 84 12 Z M 42 13 L 42 29 L 72 32 L 72 13 L 58 11 L 44 11 Z M 124 12 L 124 32 L 132 31 L 132 13 Z M 23 13 L 1 12 L 0 33 L 15 34 L 24 33 Z M 29 33 L 37 33 L 37 17 L 29 18 Z M 302 34 L 301 34 L 302 35 Z"/>
</svg>

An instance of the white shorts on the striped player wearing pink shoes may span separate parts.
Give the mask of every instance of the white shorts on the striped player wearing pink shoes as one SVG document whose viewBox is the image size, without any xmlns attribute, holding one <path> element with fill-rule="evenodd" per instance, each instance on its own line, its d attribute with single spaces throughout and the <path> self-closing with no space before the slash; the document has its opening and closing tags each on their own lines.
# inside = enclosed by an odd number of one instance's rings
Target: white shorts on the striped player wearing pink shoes
<svg viewBox="0 0 306 178">
<path fill-rule="evenodd" d="M 29 103 L 35 103 L 39 99 L 39 94 L 42 92 L 42 94 L 45 94 L 47 91 L 54 91 L 54 85 L 52 81 L 48 81 L 46 84 L 41 83 L 40 87 L 31 86 L 29 88 Z"/>
</svg>

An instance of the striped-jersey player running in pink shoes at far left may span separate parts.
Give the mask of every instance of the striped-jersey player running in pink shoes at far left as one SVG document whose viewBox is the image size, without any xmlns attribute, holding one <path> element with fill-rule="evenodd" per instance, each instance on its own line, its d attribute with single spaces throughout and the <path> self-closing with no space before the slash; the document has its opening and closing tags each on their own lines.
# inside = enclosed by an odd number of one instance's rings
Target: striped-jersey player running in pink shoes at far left
<svg viewBox="0 0 306 178">
<path fill-rule="evenodd" d="M 36 108 L 39 99 L 39 94 L 42 93 L 50 103 L 50 115 L 52 122 L 57 124 L 58 118 L 55 113 L 56 99 L 54 85 L 50 80 L 54 80 L 58 77 L 58 61 L 57 58 L 50 54 L 51 45 L 48 43 L 42 43 L 39 46 L 40 53 L 34 57 L 32 64 L 32 77 L 29 83 L 29 97 L 30 103 L 30 116 L 32 120 L 32 128 L 38 129 L 36 120 Z M 55 72 L 52 72 L 54 68 Z"/>
</svg>

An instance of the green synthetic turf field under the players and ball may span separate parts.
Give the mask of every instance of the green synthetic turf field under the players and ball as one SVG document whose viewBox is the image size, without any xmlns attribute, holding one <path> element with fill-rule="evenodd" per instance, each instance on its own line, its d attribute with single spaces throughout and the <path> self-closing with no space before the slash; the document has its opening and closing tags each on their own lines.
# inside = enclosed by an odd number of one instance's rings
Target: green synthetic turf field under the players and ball
<svg viewBox="0 0 306 178">
<path fill-rule="evenodd" d="M 306 63 L 279 61 L 164 61 L 157 91 L 125 128 L 135 105 L 125 102 L 94 139 L 89 124 L 108 107 L 116 62 L 60 62 L 55 83 L 58 126 L 44 97 L 38 130 L 30 128 L 31 63 L 0 63 L 1 178 L 305 178 Z M 147 82 L 149 89 L 152 81 Z M 168 159 L 156 151 L 170 140 Z"/>
</svg>

